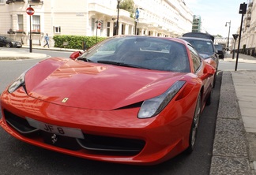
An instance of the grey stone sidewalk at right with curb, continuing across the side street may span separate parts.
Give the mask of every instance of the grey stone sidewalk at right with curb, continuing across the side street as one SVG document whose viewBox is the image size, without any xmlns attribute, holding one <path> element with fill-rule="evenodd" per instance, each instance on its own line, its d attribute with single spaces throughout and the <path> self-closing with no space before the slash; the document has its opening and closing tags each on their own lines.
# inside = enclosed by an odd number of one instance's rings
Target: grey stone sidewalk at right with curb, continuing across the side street
<svg viewBox="0 0 256 175">
<path fill-rule="evenodd" d="M 232 54 L 224 61 L 236 61 Z M 239 54 L 239 62 L 256 58 Z M 256 64 L 255 64 L 256 66 Z M 256 174 L 256 71 L 224 71 L 210 174 Z"/>
</svg>

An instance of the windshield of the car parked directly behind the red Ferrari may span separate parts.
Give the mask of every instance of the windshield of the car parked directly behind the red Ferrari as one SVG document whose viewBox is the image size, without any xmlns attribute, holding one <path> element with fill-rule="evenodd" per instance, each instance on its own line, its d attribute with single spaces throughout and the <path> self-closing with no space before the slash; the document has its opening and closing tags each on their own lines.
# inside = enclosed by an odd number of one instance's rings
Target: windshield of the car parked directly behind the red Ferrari
<svg viewBox="0 0 256 175">
<path fill-rule="evenodd" d="M 209 40 L 197 40 L 197 39 L 185 39 L 187 42 L 192 44 L 192 46 L 198 50 L 199 54 L 214 54 L 213 44 Z"/>
</svg>

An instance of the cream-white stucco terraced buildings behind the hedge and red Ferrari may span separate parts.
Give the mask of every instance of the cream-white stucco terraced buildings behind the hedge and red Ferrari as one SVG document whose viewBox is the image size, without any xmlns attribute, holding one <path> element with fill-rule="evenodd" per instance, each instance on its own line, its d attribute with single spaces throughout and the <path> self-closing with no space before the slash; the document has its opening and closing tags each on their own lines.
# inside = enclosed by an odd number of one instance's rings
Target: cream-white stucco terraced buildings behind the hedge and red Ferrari
<svg viewBox="0 0 256 175">
<path fill-rule="evenodd" d="M 122 3 L 122 1 L 120 2 Z M 0 0 L 0 35 L 41 45 L 54 35 L 116 34 L 117 0 Z M 26 9 L 31 6 L 34 14 Z M 191 32 L 193 14 L 183 0 L 134 0 L 134 13 L 119 9 L 119 35 L 178 37 Z M 100 28 L 99 28 L 100 25 Z"/>
</svg>

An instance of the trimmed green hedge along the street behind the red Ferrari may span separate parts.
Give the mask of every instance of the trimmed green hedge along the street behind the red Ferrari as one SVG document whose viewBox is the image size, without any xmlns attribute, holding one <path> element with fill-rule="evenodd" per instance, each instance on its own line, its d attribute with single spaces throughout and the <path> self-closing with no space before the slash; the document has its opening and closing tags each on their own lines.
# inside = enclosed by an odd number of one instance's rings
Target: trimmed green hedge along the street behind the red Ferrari
<svg viewBox="0 0 256 175">
<path fill-rule="evenodd" d="M 86 44 L 86 49 L 92 47 L 94 44 L 106 39 L 107 37 L 96 36 L 79 36 L 79 35 L 55 35 L 55 47 L 68 48 L 68 49 L 83 49 L 83 42 Z M 65 45 L 65 43 L 67 45 Z"/>
</svg>

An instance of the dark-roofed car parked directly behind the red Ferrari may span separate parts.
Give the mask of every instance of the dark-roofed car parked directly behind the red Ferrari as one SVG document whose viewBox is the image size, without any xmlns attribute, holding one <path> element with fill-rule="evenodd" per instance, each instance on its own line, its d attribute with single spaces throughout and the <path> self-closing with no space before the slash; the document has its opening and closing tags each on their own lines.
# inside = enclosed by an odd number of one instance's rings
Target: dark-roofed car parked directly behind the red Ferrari
<svg viewBox="0 0 256 175">
<path fill-rule="evenodd" d="M 213 45 L 213 35 L 201 32 L 190 32 L 184 34 L 181 39 L 184 39 L 187 42 L 191 43 L 194 46 L 194 48 L 198 51 L 198 54 L 201 56 L 201 58 L 203 58 L 210 65 L 213 65 L 217 73 L 219 66 L 219 56 Z M 215 82 L 216 75 L 214 76 L 214 84 Z"/>
</svg>

